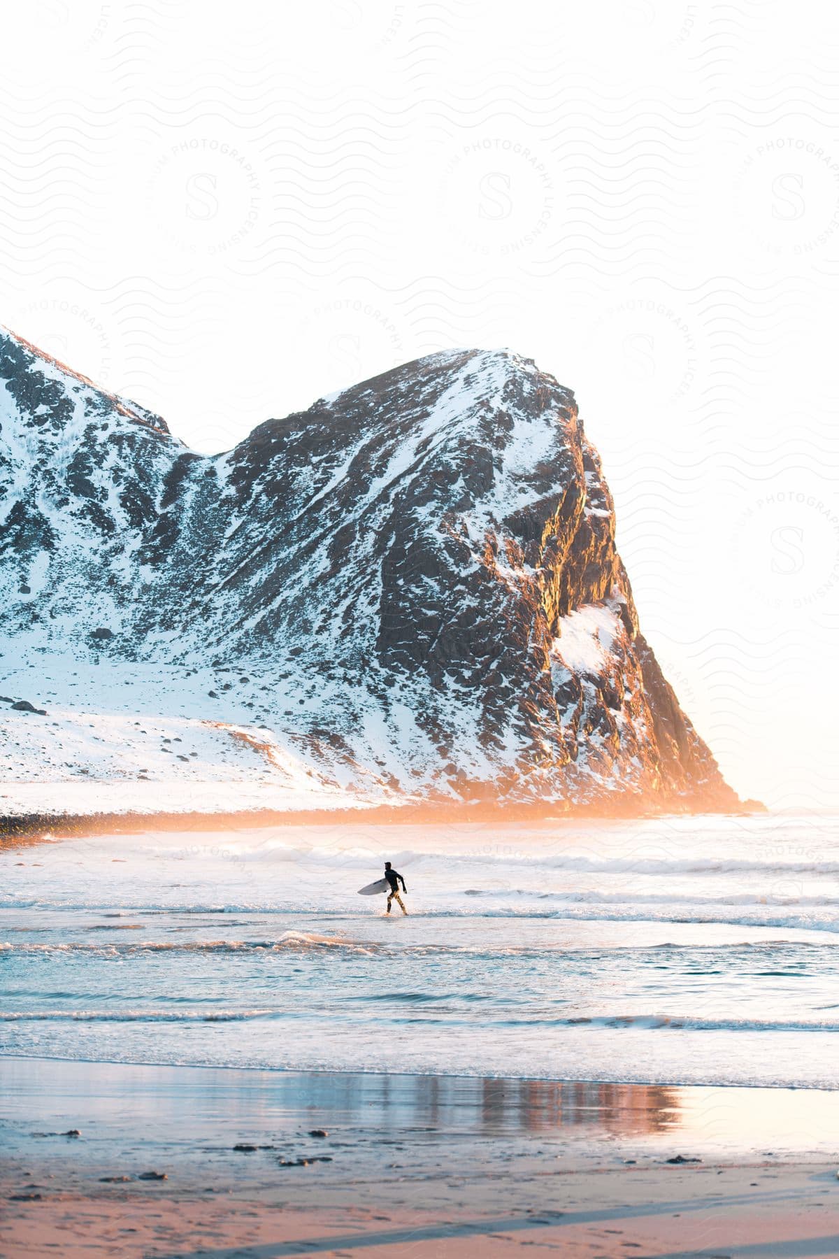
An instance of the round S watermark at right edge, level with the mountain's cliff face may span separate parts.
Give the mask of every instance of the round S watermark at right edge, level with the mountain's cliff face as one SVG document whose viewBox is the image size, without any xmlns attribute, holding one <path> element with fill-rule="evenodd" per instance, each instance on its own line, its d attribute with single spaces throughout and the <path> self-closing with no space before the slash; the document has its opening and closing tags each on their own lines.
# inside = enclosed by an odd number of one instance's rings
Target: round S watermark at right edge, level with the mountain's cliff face
<svg viewBox="0 0 839 1259">
<path fill-rule="evenodd" d="M 755 499 L 737 521 L 738 569 L 775 608 L 803 611 L 839 592 L 834 491 L 785 487 Z"/>
</svg>

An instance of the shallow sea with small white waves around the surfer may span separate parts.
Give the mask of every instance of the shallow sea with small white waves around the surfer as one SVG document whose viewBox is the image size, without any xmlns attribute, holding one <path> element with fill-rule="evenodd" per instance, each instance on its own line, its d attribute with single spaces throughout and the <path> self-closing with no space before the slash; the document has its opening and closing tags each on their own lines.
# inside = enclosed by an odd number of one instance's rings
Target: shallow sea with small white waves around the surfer
<svg viewBox="0 0 839 1259">
<path fill-rule="evenodd" d="M 701 817 L 5 851 L 0 1051 L 838 1088 L 835 833 Z M 406 919 L 356 895 L 385 857 Z"/>
</svg>

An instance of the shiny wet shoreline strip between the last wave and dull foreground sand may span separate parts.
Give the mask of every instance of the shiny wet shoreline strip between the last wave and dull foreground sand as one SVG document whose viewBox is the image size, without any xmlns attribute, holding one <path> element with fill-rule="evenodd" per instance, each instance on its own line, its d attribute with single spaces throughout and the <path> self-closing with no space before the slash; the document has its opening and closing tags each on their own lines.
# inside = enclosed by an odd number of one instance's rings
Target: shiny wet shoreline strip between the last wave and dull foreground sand
<svg viewBox="0 0 839 1259">
<path fill-rule="evenodd" d="M 86 1141 L 74 1146 L 77 1156 L 89 1153 L 96 1141 L 136 1141 L 137 1132 L 126 1131 L 132 1109 L 153 1114 L 150 1128 L 137 1129 L 151 1144 L 181 1139 L 177 1112 L 184 1109 L 195 1127 L 206 1126 L 208 1136 L 216 1138 L 220 1124 L 223 1131 L 234 1124 L 252 1136 L 278 1126 L 297 1131 L 299 1115 L 311 1113 L 333 1126 L 374 1132 L 382 1124 L 425 1133 L 457 1127 L 462 1137 L 517 1131 L 537 1133 L 540 1141 L 548 1133 L 574 1138 L 576 1144 L 582 1136 L 592 1148 L 605 1136 L 620 1133 L 652 1157 L 686 1143 L 694 1153 L 764 1157 L 770 1132 L 786 1124 L 786 1136 L 775 1136 L 772 1157 L 833 1158 L 839 1127 L 839 1089 L 795 1085 L 114 1063 L 21 1054 L 0 1054 L 0 1076 L 11 1081 L 0 1117 L 11 1144 L 15 1133 L 26 1141 L 33 1136 L 28 1128 L 48 1124 L 60 1112 L 60 1122 L 75 1122 L 52 1136 L 78 1129 Z M 86 1131 L 86 1117 L 93 1121 L 92 1129 Z"/>
</svg>

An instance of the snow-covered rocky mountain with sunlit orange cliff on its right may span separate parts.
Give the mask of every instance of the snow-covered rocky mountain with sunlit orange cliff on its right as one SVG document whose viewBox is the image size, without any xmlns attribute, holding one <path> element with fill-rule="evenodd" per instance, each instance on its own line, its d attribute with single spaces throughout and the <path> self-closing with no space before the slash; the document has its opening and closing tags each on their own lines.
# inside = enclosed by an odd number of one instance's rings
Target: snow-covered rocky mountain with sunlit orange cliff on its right
<svg viewBox="0 0 839 1259">
<path fill-rule="evenodd" d="M 0 812 L 736 806 L 528 359 L 430 355 L 205 457 L 0 332 Z"/>
</svg>

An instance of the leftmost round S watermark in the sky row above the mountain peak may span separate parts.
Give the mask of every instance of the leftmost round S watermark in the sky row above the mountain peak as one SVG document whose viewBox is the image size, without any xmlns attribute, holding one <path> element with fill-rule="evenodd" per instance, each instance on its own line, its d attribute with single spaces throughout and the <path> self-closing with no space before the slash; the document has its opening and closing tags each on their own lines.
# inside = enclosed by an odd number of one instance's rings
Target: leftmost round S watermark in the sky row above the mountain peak
<svg viewBox="0 0 839 1259">
<path fill-rule="evenodd" d="M 151 210 L 164 235 L 185 253 L 240 252 L 264 210 L 264 180 L 244 145 L 216 136 L 174 140 L 150 180 Z"/>
</svg>

